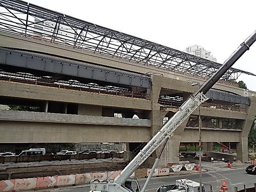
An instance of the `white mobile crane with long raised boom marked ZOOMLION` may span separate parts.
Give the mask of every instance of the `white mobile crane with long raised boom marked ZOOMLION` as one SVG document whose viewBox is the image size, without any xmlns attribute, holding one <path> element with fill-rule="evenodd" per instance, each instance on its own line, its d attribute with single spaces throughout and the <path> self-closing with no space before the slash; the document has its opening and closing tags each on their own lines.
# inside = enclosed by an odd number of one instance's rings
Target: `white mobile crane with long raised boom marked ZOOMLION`
<svg viewBox="0 0 256 192">
<path fill-rule="evenodd" d="M 233 54 L 223 63 L 222 67 L 215 72 L 202 86 L 199 87 L 181 106 L 172 118 L 153 136 L 146 146 L 136 155 L 135 158 L 123 169 L 123 171 L 111 181 L 92 180 L 90 182 L 90 192 L 133 192 L 132 182 L 137 185 L 136 192 L 144 192 L 153 171 L 150 172 L 144 187 L 140 190 L 139 183 L 135 177 L 130 177 L 133 172 L 156 150 L 160 144 L 163 144 L 158 157 L 155 159 L 152 170 L 157 166 L 158 160 L 163 152 L 168 139 L 173 136 L 175 129 L 203 102 L 207 101 L 206 92 L 221 78 L 222 75 L 246 52 L 256 40 L 256 31 L 252 33 Z M 183 185 L 187 185 L 182 181 Z M 182 185 L 182 184 L 181 184 Z M 182 186 L 183 186 L 182 185 Z M 184 186 L 187 188 L 188 186 Z M 170 190 L 172 191 L 172 190 Z M 170 192 L 168 191 L 168 192 Z M 196 191 L 194 191 L 196 192 Z"/>
</svg>

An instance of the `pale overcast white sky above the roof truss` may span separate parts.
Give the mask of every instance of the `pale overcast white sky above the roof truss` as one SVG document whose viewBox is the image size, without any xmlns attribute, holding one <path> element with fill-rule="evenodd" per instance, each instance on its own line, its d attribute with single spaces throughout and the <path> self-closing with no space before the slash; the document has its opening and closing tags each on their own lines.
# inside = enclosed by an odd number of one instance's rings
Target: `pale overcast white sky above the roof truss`
<svg viewBox="0 0 256 192">
<path fill-rule="evenodd" d="M 174 49 L 191 45 L 212 52 L 218 63 L 256 30 L 256 1 L 27 0 L 30 3 L 147 39 Z M 256 43 L 234 65 L 256 74 Z M 256 91 L 256 76 L 241 75 Z"/>
</svg>

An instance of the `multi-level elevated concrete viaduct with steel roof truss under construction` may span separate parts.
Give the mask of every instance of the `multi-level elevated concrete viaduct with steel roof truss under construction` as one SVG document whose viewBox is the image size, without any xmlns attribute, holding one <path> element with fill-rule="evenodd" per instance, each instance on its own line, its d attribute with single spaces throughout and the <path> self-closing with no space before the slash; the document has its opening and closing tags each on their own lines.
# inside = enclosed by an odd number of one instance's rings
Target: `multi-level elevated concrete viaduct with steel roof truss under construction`
<svg viewBox="0 0 256 192">
<path fill-rule="evenodd" d="M 19 3 L 9 3 L 5 9 L 22 12 L 17 6 Z M 19 30 L 20 24 L 10 30 L 17 23 L 6 23 L 9 26 L 0 29 L 1 50 L 12 49 L 23 58 L 31 53 L 42 60 L 45 57 L 58 60 L 59 64 L 69 62 L 73 66 L 75 63 L 77 74 L 72 75 L 69 69 L 64 73 L 63 67 L 59 73 L 46 70 L 44 64 L 39 69 L 39 61 L 31 61 L 28 66 L 27 61 L 21 59 L 7 60 L 7 56 L 14 57 L 12 50 L 2 54 L 0 105 L 33 106 L 36 112 L 0 110 L 1 143 L 125 142 L 129 150 L 129 146 L 134 148 L 133 143 L 147 142 L 164 121 L 174 115 L 181 103 L 196 91 L 197 87 L 191 83 L 202 84 L 220 67 L 218 63 L 131 35 L 88 22 L 77 23 L 80 20 L 74 21 L 67 15 L 64 18 L 54 11 L 51 14 L 57 16 L 49 18 L 44 8 L 34 15 L 36 9 L 33 5 L 33 11 L 25 10 L 34 16 L 27 17 L 32 18 L 29 27 Z M 55 23 L 53 27 L 48 26 L 53 31 L 50 33 L 44 28 L 47 18 Z M 65 19 L 69 20 L 63 22 Z M 68 22 L 71 24 L 67 25 Z M 38 25 L 44 27 L 41 29 Z M 72 26 L 73 32 L 63 36 L 61 25 Z M 58 32 L 59 28 L 62 32 Z M 89 33 L 95 33 L 95 37 L 86 36 Z M 97 67 L 100 72 L 111 70 L 128 77 L 134 75 L 134 79 L 141 80 L 138 82 L 147 83 L 132 84 L 132 78 L 123 84 L 118 78 L 110 82 L 106 76 L 95 80 L 93 72 L 90 78 L 79 76 L 78 65 Z M 238 88 L 228 81 L 237 79 L 241 73 L 254 75 L 230 69 L 212 87 L 211 99 L 201 105 L 200 113 L 204 153 L 211 154 L 212 142 L 235 142 L 236 159 L 247 161 L 247 137 L 256 114 L 256 92 Z M 180 142 L 198 142 L 198 113 L 195 110 L 174 132 L 159 166 L 179 161 Z M 114 117 L 115 114 L 121 114 L 122 118 Z M 139 119 L 132 118 L 135 114 Z M 157 150 L 152 157 L 158 153 Z"/>
</svg>

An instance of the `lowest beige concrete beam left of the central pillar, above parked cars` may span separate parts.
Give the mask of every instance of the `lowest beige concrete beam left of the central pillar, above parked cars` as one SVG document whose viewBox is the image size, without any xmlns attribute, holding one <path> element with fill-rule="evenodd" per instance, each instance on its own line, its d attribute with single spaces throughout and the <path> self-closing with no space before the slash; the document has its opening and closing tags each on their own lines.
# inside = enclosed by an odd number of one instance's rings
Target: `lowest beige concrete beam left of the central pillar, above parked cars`
<svg viewBox="0 0 256 192">
<path fill-rule="evenodd" d="M 0 121 L 1 143 L 141 142 L 148 127 Z"/>
</svg>

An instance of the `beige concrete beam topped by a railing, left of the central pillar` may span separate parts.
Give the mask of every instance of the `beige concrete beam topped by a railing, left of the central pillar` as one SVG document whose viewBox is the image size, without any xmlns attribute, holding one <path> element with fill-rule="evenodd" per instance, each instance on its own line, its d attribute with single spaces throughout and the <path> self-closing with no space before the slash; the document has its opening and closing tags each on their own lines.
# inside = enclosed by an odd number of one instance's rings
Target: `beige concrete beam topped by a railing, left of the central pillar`
<svg viewBox="0 0 256 192">
<path fill-rule="evenodd" d="M 87 105 L 151 110 L 151 101 L 116 95 L 90 93 L 0 81 L 0 96 L 43 101 L 81 103 Z"/>
</svg>

